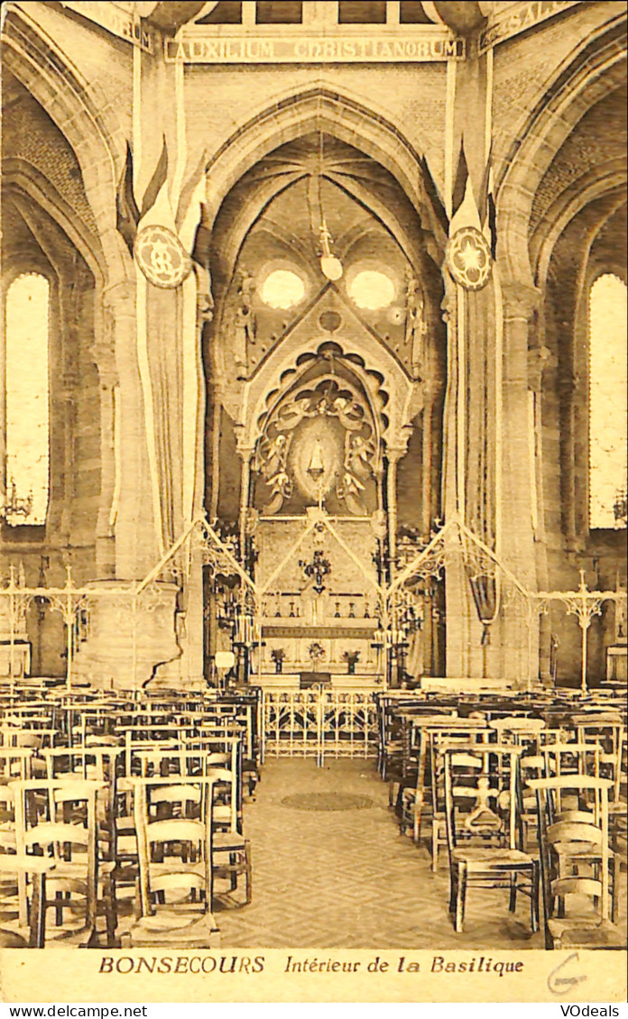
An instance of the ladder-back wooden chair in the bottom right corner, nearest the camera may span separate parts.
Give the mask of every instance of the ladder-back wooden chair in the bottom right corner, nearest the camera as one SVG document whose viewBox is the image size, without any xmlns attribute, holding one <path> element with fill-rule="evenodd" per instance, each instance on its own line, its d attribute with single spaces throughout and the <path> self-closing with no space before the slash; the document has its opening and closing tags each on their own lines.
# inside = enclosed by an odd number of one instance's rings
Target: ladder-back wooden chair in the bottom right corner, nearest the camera
<svg viewBox="0 0 628 1019">
<path fill-rule="evenodd" d="M 613 922 L 618 872 L 609 847 L 612 781 L 563 774 L 529 786 L 537 797 L 545 948 L 624 948 Z M 568 790 L 585 794 L 593 811 L 561 816 L 557 794 Z"/>
</svg>

